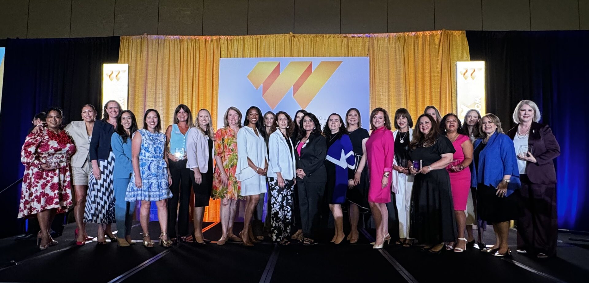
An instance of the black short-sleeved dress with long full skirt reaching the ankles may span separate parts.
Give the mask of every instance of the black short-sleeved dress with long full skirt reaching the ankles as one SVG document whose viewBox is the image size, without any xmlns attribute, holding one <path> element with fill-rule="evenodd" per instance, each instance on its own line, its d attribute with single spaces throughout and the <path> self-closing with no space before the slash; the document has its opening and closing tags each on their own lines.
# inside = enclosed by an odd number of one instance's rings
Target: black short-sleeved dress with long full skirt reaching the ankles
<svg viewBox="0 0 589 283">
<path fill-rule="evenodd" d="M 421 159 L 423 167 L 441 159 L 442 154 L 454 154 L 452 142 L 440 136 L 431 147 L 417 147 L 409 152 L 413 161 Z M 456 219 L 450 187 L 450 176 L 445 168 L 428 174 L 417 174 L 411 196 L 411 238 L 424 244 L 456 241 Z"/>
</svg>

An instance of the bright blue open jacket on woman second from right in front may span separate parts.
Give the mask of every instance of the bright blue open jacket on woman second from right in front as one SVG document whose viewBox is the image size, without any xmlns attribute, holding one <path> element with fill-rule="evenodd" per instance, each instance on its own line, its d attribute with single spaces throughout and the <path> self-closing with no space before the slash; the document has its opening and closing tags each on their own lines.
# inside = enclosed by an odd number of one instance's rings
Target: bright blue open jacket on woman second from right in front
<svg viewBox="0 0 589 283">
<path fill-rule="evenodd" d="M 476 149 L 481 142 L 482 139 L 477 139 L 474 148 Z M 476 188 L 478 184 L 485 184 L 497 188 L 497 185 L 503 180 L 504 175 L 511 175 L 511 182 L 507 187 L 507 195 L 510 195 L 515 189 L 521 188 L 514 142 L 509 136 L 495 132 L 489 138 L 485 148 L 482 149 L 478 158 L 478 164 L 482 166 L 477 168 L 477 164 L 473 162 L 471 187 Z"/>
</svg>

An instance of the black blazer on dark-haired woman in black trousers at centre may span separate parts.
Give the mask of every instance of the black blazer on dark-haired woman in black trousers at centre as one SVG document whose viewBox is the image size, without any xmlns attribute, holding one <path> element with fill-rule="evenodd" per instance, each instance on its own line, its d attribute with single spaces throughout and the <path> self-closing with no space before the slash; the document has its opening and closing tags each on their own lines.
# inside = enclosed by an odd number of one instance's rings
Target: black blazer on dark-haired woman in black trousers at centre
<svg viewBox="0 0 589 283">
<path fill-rule="evenodd" d="M 296 150 L 299 143 L 294 144 L 294 155 L 296 156 L 296 168 L 303 169 L 305 177 L 303 181 L 312 183 L 327 182 L 325 171 L 325 156 L 327 155 L 327 142 L 321 134 L 311 134 L 307 145 Z M 300 180 L 300 178 L 297 178 Z"/>
</svg>

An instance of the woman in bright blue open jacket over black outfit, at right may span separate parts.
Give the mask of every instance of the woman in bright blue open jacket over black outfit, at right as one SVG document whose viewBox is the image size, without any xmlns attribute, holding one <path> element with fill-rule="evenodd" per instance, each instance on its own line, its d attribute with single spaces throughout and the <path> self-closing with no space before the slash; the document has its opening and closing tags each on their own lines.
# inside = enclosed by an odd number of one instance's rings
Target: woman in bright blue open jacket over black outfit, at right
<svg viewBox="0 0 589 283">
<path fill-rule="evenodd" d="M 518 217 L 519 170 L 514 142 L 503 133 L 501 121 L 493 114 L 482 116 L 479 132 L 485 134 L 474 144 L 471 187 L 477 187 L 478 214 L 493 224 L 497 242 L 483 252 L 497 257 L 510 255 L 507 245 L 509 221 Z"/>
</svg>

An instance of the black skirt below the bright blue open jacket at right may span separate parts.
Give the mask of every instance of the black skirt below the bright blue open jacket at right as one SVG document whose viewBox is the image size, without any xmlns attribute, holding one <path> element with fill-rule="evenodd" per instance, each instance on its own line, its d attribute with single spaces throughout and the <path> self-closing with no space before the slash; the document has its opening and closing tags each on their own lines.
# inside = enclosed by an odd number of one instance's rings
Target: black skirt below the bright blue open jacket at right
<svg viewBox="0 0 589 283">
<path fill-rule="evenodd" d="M 477 187 L 477 212 L 479 217 L 487 222 L 497 223 L 518 218 L 519 190 L 515 190 L 509 197 L 499 198 L 497 189 L 484 184 Z"/>
</svg>

